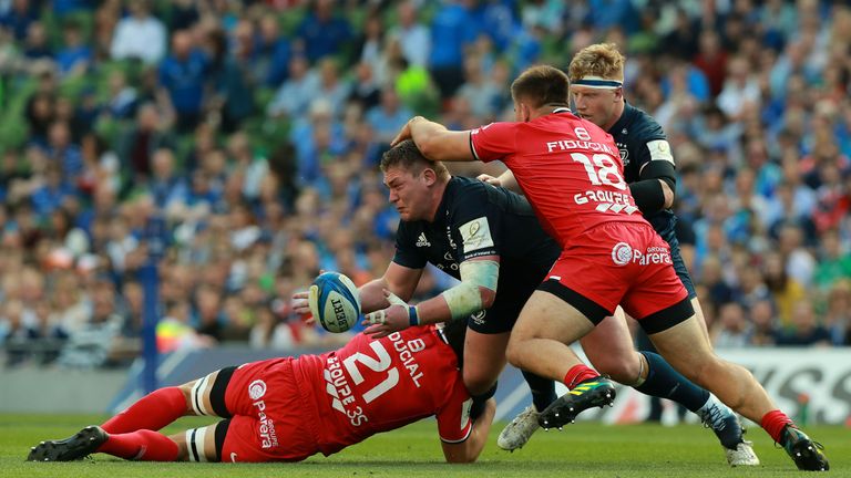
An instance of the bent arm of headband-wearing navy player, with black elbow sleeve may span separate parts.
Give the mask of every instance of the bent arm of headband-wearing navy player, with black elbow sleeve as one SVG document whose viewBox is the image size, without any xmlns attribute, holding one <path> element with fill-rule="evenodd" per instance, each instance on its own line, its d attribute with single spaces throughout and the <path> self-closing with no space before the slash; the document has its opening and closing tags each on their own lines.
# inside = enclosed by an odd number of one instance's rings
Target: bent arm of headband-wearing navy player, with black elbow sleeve
<svg viewBox="0 0 851 478">
<path fill-rule="evenodd" d="M 629 185 L 635 205 L 645 216 L 668 209 L 674 205 L 677 174 L 674 156 L 665 139 L 647 142 L 638 152 L 639 180 Z"/>
</svg>

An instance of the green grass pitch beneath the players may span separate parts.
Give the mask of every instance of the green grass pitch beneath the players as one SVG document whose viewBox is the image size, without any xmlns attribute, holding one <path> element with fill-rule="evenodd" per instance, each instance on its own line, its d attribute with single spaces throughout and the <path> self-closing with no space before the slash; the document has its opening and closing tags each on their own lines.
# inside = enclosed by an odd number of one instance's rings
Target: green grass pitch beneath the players
<svg viewBox="0 0 851 478">
<path fill-rule="evenodd" d="M 84 415 L 0 415 L 0 477 L 789 477 L 791 460 L 768 436 L 752 429 L 748 438 L 762 466 L 729 468 L 709 430 L 697 425 L 571 425 L 564 432 L 539 432 L 522 450 L 496 448 L 503 424 L 495 424 L 479 463 L 443 464 L 433 420 L 377 435 L 329 458 L 315 456 L 298 464 L 152 464 L 129 463 L 104 455 L 94 460 L 59 464 L 24 463 L 29 447 L 42 439 L 69 436 L 103 417 Z M 164 432 L 175 433 L 211 423 L 182 419 Z M 851 430 L 808 427 L 827 445 L 830 476 L 851 477 Z"/>
</svg>

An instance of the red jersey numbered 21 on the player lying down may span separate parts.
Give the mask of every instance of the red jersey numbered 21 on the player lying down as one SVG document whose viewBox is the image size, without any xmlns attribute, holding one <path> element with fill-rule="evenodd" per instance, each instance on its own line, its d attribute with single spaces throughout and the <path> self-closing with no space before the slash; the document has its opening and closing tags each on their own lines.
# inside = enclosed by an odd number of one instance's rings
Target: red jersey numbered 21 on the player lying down
<svg viewBox="0 0 851 478">
<path fill-rule="evenodd" d="M 431 415 L 443 441 L 463 441 L 472 430 L 472 399 L 434 325 L 378 340 L 359 334 L 340 350 L 299 357 L 294 368 L 310 386 L 325 455 Z"/>
</svg>

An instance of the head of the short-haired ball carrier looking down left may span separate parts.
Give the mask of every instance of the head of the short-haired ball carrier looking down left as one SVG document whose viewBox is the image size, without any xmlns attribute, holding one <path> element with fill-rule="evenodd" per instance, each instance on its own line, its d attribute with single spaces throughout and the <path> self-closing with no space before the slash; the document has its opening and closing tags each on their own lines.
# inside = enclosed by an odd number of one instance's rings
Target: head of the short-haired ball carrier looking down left
<svg viewBox="0 0 851 478">
<path fill-rule="evenodd" d="M 381 157 L 390 202 L 402 220 L 432 220 L 450 175 L 443 163 L 431 162 L 407 139 Z"/>
</svg>

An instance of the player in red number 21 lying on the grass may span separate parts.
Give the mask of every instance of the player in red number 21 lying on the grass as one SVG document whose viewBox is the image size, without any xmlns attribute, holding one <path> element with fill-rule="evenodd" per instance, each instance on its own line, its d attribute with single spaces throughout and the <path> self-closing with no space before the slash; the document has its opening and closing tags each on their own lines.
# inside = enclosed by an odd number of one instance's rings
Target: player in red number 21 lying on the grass
<svg viewBox="0 0 851 478">
<path fill-rule="evenodd" d="M 27 459 L 105 453 L 147 461 L 298 461 L 435 415 L 447 461 L 474 461 L 495 403 L 469 416 L 472 399 L 459 371 L 464 325 L 414 326 L 378 340 L 358 334 L 322 355 L 222 368 L 161 388 L 100 427 L 42 441 Z M 225 419 L 172 436 L 156 432 L 186 415 Z"/>
</svg>

